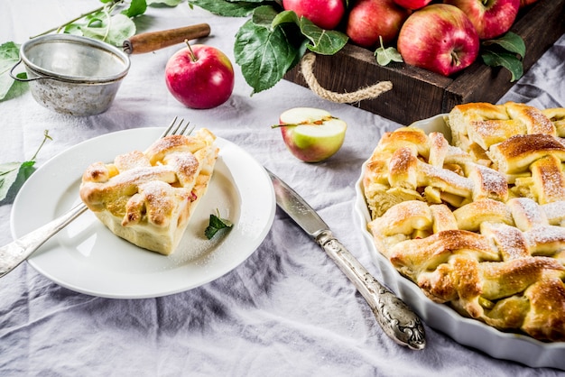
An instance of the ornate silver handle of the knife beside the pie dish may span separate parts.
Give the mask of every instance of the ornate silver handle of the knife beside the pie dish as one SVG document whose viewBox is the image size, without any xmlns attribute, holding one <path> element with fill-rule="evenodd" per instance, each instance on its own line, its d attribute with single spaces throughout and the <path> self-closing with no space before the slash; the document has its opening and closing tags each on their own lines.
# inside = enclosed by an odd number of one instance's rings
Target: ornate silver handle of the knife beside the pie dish
<svg viewBox="0 0 565 377">
<path fill-rule="evenodd" d="M 421 350 L 426 345 L 421 319 L 394 293 L 378 282 L 366 268 L 349 253 L 329 230 L 320 232 L 316 242 L 338 264 L 373 310 L 384 333 L 399 345 Z"/>
</svg>

